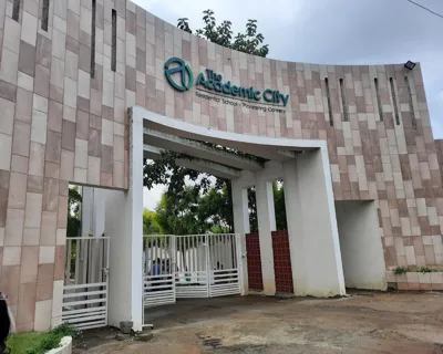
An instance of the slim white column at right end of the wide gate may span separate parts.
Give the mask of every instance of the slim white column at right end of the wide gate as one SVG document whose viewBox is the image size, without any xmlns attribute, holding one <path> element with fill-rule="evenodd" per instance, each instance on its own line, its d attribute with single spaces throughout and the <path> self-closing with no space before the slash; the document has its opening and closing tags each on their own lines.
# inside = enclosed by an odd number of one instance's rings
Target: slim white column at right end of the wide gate
<svg viewBox="0 0 443 354">
<path fill-rule="evenodd" d="M 247 295 L 249 291 L 248 281 L 248 262 L 246 252 L 246 233 L 250 232 L 249 207 L 248 207 L 248 189 L 243 188 L 238 180 L 231 181 L 233 187 L 233 212 L 234 212 L 234 231 L 238 233 L 239 240 L 237 248 L 238 270 L 240 272 L 241 295 Z"/>
</svg>

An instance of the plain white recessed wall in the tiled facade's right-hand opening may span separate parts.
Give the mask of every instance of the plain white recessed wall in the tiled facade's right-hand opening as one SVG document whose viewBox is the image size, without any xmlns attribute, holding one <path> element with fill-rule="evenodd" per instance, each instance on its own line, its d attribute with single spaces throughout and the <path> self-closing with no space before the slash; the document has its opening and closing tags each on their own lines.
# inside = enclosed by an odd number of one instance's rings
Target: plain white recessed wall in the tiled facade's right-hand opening
<svg viewBox="0 0 443 354">
<path fill-rule="evenodd" d="M 385 263 L 374 201 L 336 201 L 347 288 L 387 290 Z"/>
</svg>

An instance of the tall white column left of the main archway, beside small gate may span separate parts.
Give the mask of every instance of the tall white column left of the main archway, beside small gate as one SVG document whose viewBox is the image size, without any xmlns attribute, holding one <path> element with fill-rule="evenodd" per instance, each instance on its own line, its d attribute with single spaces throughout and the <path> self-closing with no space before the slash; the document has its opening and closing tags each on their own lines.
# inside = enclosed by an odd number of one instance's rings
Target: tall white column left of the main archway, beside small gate
<svg viewBox="0 0 443 354">
<path fill-rule="evenodd" d="M 135 110 L 136 111 L 136 110 Z M 143 326 L 143 118 L 130 123 L 130 189 L 109 191 L 105 233 L 111 238 L 110 324 Z"/>
</svg>

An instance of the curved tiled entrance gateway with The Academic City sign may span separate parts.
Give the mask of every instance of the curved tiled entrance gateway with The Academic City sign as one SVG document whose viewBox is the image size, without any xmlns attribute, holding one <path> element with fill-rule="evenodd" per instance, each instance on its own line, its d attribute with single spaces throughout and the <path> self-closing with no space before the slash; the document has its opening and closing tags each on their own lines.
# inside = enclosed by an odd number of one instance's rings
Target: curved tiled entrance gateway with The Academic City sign
<svg viewBox="0 0 443 354">
<path fill-rule="evenodd" d="M 179 279 L 169 299 L 251 288 L 341 295 L 346 287 L 385 289 L 394 267 L 443 263 L 443 144 L 433 139 L 419 64 L 256 58 L 125 0 L 0 0 L 0 287 L 19 331 L 80 317 L 89 317 L 84 327 L 131 320 L 142 329 L 144 306 L 161 299 L 145 292 L 159 280 L 145 275 L 156 243 L 145 238 L 144 247 L 143 158 L 162 149 L 231 179 L 235 215 L 235 235 L 192 237 L 185 252 L 177 242 L 190 237 L 171 237 L 169 274 Z M 275 230 L 277 178 L 287 233 Z M 66 240 L 69 184 L 107 190 L 84 188 L 94 195 L 84 198 L 92 226 Z M 246 236 L 251 186 L 259 232 Z M 65 268 L 73 249 L 75 274 Z M 193 254 L 194 268 L 175 270 Z M 231 268 L 220 272 L 215 259 Z M 181 285 L 186 279 L 194 290 Z M 416 283 L 405 275 L 398 285 Z M 427 285 L 442 283 L 432 277 Z"/>
</svg>

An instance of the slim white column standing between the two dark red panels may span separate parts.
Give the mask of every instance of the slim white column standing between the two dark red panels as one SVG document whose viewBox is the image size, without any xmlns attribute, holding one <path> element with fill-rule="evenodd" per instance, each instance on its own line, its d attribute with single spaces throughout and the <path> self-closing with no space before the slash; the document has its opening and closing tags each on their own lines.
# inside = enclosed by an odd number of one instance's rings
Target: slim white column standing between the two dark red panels
<svg viewBox="0 0 443 354">
<path fill-rule="evenodd" d="M 274 251 L 271 231 L 276 230 L 272 183 L 257 174 L 256 184 L 257 221 L 260 241 L 261 273 L 264 293 L 276 294 L 276 275 L 274 272 Z"/>
</svg>

